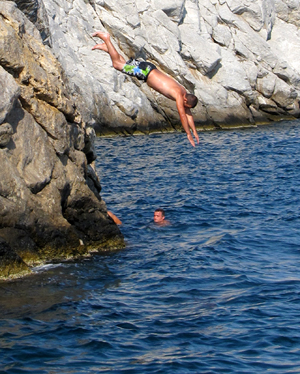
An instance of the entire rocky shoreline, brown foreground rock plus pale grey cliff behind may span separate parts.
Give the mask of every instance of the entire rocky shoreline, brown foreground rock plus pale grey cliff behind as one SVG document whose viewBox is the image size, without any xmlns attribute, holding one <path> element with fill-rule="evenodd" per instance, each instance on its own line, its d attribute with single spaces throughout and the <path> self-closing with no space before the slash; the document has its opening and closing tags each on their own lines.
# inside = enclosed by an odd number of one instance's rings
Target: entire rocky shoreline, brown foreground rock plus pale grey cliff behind
<svg viewBox="0 0 300 374">
<path fill-rule="evenodd" d="M 91 51 L 107 30 L 199 98 L 200 131 L 300 117 L 300 2 L 0 1 L 0 279 L 122 248 L 98 135 L 181 131 L 175 104 Z M 101 155 L 98 155 L 101 157 Z"/>
</svg>

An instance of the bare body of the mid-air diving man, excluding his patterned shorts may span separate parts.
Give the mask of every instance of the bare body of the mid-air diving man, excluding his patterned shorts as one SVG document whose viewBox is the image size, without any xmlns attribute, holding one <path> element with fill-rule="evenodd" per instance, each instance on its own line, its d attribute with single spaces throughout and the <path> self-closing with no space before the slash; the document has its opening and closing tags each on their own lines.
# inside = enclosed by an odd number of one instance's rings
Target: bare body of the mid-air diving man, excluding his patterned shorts
<svg viewBox="0 0 300 374">
<path fill-rule="evenodd" d="M 97 31 L 92 36 L 97 36 L 104 41 L 104 43 L 96 44 L 92 49 L 100 49 L 104 52 L 109 53 L 113 67 L 116 70 L 126 73 L 126 71 L 124 71 L 124 67 L 126 67 L 126 61 L 117 52 L 117 50 L 111 43 L 110 35 L 108 33 Z M 186 89 L 178 82 L 176 82 L 173 78 L 158 70 L 154 65 L 152 66 L 154 68 L 152 67 L 150 69 L 150 72 L 147 73 L 147 76 L 144 80 L 149 87 L 161 93 L 168 99 L 174 100 L 176 102 L 182 126 L 187 134 L 189 142 L 193 147 L 195 147 L 195 142 L 193 140 L 191 130 L 195 136 L 197 143 L 199 143 L 199 136 L 197 134 L 194 119 L 190 109 L 196 106 L 198 101 L 197 98 L 194 95 L 187 93 Z"/>
</svg>

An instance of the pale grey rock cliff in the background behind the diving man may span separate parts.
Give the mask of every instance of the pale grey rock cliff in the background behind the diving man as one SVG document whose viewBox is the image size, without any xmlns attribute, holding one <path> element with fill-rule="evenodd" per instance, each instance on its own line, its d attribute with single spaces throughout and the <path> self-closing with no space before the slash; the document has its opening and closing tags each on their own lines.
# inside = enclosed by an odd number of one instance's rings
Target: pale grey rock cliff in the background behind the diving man
<svg viewBox="0 0 300 374">
<path fill-rule="evenodd" d="M 100 133 L 177 127 L 174 103 L 91 51 L 111 33 L 125 58 L 146 58 L 195 93 L 203 128 L 299 117 L 299 0 L 18 0 Z M 83 84 L 84 82 L 84 84 Z"/>
</svg>

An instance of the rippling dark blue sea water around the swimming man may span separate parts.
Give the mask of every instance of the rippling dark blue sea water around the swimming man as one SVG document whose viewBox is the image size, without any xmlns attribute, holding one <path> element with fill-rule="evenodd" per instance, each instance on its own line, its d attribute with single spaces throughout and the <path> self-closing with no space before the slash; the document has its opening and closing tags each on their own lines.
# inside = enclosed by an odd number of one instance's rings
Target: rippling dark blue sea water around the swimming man
<svg viewBox="0 0 300 374">
<path fill-rule="evenodd" d="M 0 283 L 1 373 L 300 373 L 300 122 L 200 142 L 97 141 L 127 248 Z"/>
</svg>

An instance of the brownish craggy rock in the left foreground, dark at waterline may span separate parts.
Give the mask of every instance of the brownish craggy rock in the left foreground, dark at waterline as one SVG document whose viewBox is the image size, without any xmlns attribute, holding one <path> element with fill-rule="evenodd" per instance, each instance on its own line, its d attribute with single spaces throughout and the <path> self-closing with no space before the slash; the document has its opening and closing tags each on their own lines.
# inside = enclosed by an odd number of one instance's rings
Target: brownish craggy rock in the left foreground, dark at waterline
<svg viewBox="0 0 300 374">
<path fill-rule="evenodd" d="M 14 3 L 0 1 L 0 278 L 123 245 L 63 70 Z"/>
</svg>

